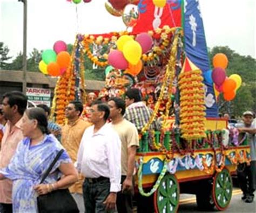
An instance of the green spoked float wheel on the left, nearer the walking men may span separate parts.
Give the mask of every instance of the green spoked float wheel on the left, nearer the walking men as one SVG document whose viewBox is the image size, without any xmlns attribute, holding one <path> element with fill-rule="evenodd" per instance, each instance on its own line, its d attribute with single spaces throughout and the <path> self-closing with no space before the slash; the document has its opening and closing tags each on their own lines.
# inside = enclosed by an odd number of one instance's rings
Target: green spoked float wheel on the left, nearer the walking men
<svg viewBox="0 0 256 213">
<path fill-rule="evenodd" d="M 154 193 L 154 210 L 157 213 L 177 212 L 179 207 L 179 183 L 175 175 L 166 174 Z"/>
</svg>

